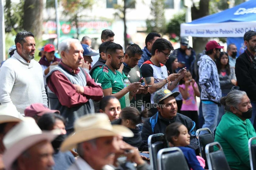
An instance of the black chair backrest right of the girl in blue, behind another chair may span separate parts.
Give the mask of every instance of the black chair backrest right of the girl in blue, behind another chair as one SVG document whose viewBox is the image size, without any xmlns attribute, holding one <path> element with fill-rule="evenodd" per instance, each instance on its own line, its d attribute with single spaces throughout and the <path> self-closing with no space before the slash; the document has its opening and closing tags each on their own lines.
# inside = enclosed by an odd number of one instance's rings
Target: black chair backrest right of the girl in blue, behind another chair
<svg viewBox="0 0 256 170">
<path fill-rule="evenodd" d="M 200 132 L 202 132 L 200 134 Z M 205 154 L 205 146 L 209 143 L 214 142 L 214 136 L 213 133 L 209 128 L 200 128 L 197 129 L 196 131 L 196 138 L 198 138 L 199 142 L 199 150 L 200 150 L 200 155 L 204 160 L 206 160 L 206 154 Z M 210 151 L 213 151 L 213 148 L 210 148 Z M 207 162 L 205 164 L 205 169 L 208 169 Z"/>
</svg>

